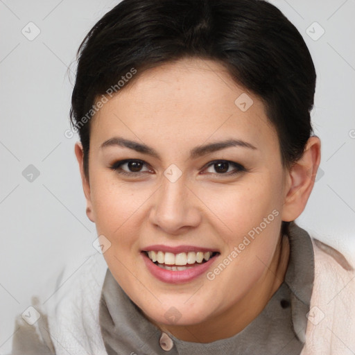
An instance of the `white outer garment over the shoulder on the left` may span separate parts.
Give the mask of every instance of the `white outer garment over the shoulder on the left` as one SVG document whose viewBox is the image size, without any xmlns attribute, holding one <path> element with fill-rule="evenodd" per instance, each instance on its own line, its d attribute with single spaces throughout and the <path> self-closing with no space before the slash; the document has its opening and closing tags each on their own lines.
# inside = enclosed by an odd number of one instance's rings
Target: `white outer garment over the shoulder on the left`
<svg viewBox="0 0 355 355">
<path fill-rule="evenodd" d="M 76 327 L 90 327 L 83 317 L 85 312 L 92 317 L 96 311 L 106 270 L 107 264 L 98 252 L 62 266 L 53 275 L 52 286 L 44 285 L 31 297 L 31 306 L 16 316 L 11 355 L 54 355 L 61 336 L 71 331 L 80 334 Z M 83 336 L 86 333 L 87 329 L 82 329 Z M 70 340 L 67 345 L 72 345 Z"/>
</svg>

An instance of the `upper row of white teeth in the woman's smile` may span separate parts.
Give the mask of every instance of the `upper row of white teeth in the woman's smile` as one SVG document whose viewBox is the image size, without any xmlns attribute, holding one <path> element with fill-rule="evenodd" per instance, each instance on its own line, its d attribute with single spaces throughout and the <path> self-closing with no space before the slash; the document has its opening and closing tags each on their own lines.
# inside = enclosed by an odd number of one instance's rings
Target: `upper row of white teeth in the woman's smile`
<svg viewBox="0 0 355 355">
<path fill-rule="evenodd" d="M 180 252 L 173 254 L 172 252 L 148 252 L 151 261 L 165 263 L 167 265 L 187 265 L 188 263 L 202 263 L 202 260 L 209 260 L 212 252 Z"/>
</svg>

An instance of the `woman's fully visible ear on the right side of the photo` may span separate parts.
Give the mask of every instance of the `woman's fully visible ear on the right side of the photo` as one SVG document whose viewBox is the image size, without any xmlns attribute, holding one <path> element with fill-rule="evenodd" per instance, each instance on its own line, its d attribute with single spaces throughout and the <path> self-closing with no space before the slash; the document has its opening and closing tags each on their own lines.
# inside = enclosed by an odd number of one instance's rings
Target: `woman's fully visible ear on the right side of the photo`
<svg viewBox="0 0 355 355">
<path fill-rule="evenodd" d="M 295 220 L 306 207 L 320 164 L 320 139 L 310 137 L 302 157 L 288 170 L 282 220 Z"/>
</svg>

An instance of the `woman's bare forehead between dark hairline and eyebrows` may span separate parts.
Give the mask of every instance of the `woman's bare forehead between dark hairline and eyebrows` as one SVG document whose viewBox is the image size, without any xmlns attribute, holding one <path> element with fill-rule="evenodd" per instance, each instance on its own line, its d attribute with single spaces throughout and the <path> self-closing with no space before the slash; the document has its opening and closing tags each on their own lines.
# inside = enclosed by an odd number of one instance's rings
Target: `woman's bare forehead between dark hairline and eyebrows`
<svg viewBox="0 0 355 355">
<path fill-rule="evenodd" d="M 277 141 L 261 100 L 212 60 L 186 58 L 137 73 L 92 119 L 92 144 L 115 134 L 150 144 L 202 144 L 225 138 Z"/>
</svg>

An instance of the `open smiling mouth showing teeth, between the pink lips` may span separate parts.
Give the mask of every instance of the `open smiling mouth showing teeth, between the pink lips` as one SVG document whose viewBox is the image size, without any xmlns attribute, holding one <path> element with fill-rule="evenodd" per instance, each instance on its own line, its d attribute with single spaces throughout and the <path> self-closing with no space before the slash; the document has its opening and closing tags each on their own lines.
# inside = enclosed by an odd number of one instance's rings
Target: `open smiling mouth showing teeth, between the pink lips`
<svg viewBox="0 0 355 355">
<path fill-rule="evenodd" d="M 219 254 L 219 252 L 180 252 L 174 254 L 161 251 L 144 251 L 144 253 L 159 268 L 171 271 L 194 268 L 202 263 L 207 263 L 207 261 Z"/>
</svg>

